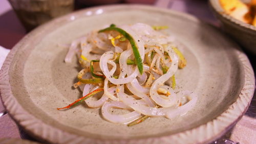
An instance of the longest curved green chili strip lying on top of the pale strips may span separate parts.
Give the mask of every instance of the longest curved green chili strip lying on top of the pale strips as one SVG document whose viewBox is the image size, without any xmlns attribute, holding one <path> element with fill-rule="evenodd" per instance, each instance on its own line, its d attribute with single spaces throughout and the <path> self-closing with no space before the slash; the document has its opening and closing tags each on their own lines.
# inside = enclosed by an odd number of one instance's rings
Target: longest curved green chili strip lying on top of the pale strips
<svg viewBox="0 0 256 144">
<path fill-rule="evenodd" d="M 124 30 L 122 30 L 120 28 L 116 28 L 116 27 L 114 27 L 114 25 L 111 25 L 111 26 L 112 27 L 100 30 L 99 33 L 106 32 L 106 31 L 117 31 L 120 34 L 122 34 L 127 40 L 129 40 L 131 45 L 132 45 L 133 54 L 134 54 L 134 57 L 135 57 L 135 62 L 138 66 L 140 74 L 142 74 L 143 73 L 143 63 L 142 63 L 142 59 L 140 57 L 138 47 L 135 43 L 135 40 L 133 39 L 133 37 L 129 33 L 125 32 Z"/>
</svg>

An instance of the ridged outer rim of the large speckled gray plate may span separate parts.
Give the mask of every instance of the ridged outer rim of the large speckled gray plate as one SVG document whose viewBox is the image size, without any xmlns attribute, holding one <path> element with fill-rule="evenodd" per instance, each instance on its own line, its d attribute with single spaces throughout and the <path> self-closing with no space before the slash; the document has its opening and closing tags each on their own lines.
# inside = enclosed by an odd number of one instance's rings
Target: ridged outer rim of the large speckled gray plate
<svg viewBox="0 0 256 144">
<path fill-rule="evenodd" d="M 179 133 L 175 133 L 167 136 L 159 136 L 159 137 L 148 137 L 148 138 L 133 138 L 133 139 L 94 139 L 90 137 L 84 137 L 80 135 L 76 135 L 73 133 L 66 132 L 65 130 L 58 129 L 56 127 L 52 127 L 42 122 L 40 119 L 37 119 L 35 116 L 27 112 L 22 105 L 19 105 L 18 101 L 15 99 L 14 95 L 11 91 L 11 85 L 9 83 L 9 67 L 12 63 L 12 59 L 15 53 L 18 51 L 19 47 L 22 47 L 24 43 L 28 42 L 33 35 L 40 33 L 44 29 L 48 29 L 47 27 L 51 27 L 53 23 L 66 21 L 68 22 L 71 16 L 83 17 L 86 15 L 82 15 L 87 11 L 95 11 L 97 9 L 120 9 L 120 8 L 133 8 L 133 9 L 147 9 L 151 11 L 162 12 L 166 14 L 176 14 L 186 17 L 194 22 L 201 22 L 198 18 L 191 16 L 186 13 L 181 13 L 168 9 L 160 9 L 153 6 L 144 6 L 144 5 L 108 5 L 108 6 L 98 6 L 87 9 L 82 9 L 76 12 L 72 12 L 68 15 L 61 16 L 59 18 L 53 19 L 46 24 L 39 26 L 29 34 L 27 34 L 22 40 L 20 40 L 8 54 L 2 69 L 0 70 L 0 92 L 1 99 L 6 107 L 7 111 L 14 119 L 14 121 L 21 127 L 25 129 L 25 131 L 29 132 L 36 138 L 44 141 L 49 141 L 53 143 L 168 143 L 172 140 L 174 143 L 187 143 L 187 138 L 189 137 L 189 143 L 205 143 L 210 142 L 211 140 L 219 138 L 222 134 L 228 131 L 234 124 L 236 124 L 243 114 L 246 112 L 250 101 L 254 92 L 254 73 L 252 66 L 247 58 L 247 56 L 242 51 L 237 51 L 238 59 L 241 61 L 243 69 L 244 69 L 244 86 L 242 88 L 241 93 L 237 100 L 232 103 L 222 114 L 217 116 L 215 119 L 207 122 L 206 124 L 200 125 L 196 128 L 185 130 Z M 108 13 L 108 12 L 103 12 Z M 204 23 L 205 25 L 205 23 Z M 226 37 L 227 38 L 227 37 Z M 227 38 L 229 40 L 229 38 Z M 229 40 L 230 41 L 230 40 Z M 231 43 L 234 43 L 230 41 Z M 237 47 L 239 50 L 239 46 L 237 44 L 233 44 L 234 47 Z M 216 126 L 220 125 L 220 126 Z M 200 134 L 200 135 L 199 135 Z M 58 135 L 58 136 L 56 136 Z"/>
</svg>

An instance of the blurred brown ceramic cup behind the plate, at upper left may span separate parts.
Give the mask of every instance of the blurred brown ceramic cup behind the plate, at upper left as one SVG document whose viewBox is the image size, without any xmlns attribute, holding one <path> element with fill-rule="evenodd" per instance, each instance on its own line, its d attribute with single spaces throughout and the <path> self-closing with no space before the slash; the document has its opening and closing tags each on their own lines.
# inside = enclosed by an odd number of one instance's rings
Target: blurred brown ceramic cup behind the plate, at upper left
<svg viewBox="0 0 256 144">
<path fill-rule="evenodd" d="M 8 0 L 20 22 L 29 32 L 55 17 L 74 9 L 74 0 Z"/>
</svg>

